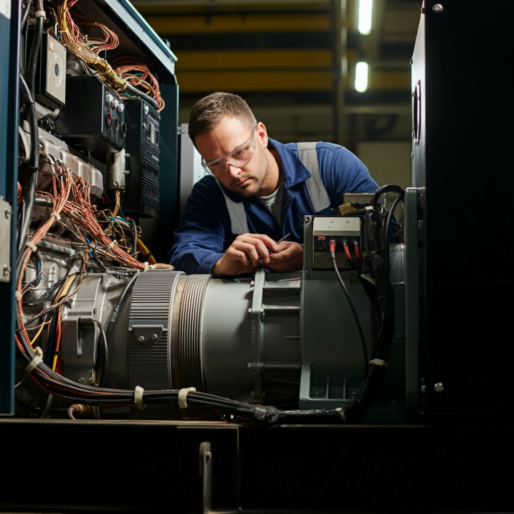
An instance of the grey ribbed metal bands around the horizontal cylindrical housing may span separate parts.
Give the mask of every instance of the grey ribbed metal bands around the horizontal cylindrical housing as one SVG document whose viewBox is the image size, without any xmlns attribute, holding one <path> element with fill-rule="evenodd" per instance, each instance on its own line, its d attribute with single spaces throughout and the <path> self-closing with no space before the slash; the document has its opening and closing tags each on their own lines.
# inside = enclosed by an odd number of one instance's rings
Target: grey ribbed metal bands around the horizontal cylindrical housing
<svg viewBox="0 0 514 514">
<path fill-rule="evenodd" d="M 128 321 L 128 381 L 131 389 L 195 387 L 205 391 L 201 365 L 201 314 L 211 275 L 151 270 L 141 273 L 134 286 Z M 180 287 L 179 287 L 180 284 Z M 183 288 L 182 288 L 183 286 Z M 183 289 L 183 290 L 181 290 Z M 180 291 L 180 292 L 179 292 Z M 180 306 L 179 316 L 173 303 Z M 173 338 L 172 333 L 178 337 Z M 172 348 L 172 344 L 176 348 Z M 173 383 L 172 356 L 178 350 L 180 383 Z M 198 412 L 197 412 L 198 411 Z M 182 417 L 195 418 L 205 409 L 189 408 Z M 141 418 L 178 418 L 174 406 L 147 406 Z"/>
</svg>

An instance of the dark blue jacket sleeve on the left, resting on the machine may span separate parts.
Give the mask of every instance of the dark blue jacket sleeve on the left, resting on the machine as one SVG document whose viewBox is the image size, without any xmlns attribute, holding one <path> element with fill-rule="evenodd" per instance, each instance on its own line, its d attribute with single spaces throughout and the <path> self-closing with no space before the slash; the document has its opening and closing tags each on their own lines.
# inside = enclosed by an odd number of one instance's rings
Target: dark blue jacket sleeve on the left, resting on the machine
<svg viewBox="0 0 514 514">
<path fill-rule="evenodd" d="M 225 250 L 227 218 L 225 199 L 215 180 L 199 180 L 188 198 L 182 225 L 175 231 L 170 264 L 188 275 L 210 273 Z"/>
</svg>

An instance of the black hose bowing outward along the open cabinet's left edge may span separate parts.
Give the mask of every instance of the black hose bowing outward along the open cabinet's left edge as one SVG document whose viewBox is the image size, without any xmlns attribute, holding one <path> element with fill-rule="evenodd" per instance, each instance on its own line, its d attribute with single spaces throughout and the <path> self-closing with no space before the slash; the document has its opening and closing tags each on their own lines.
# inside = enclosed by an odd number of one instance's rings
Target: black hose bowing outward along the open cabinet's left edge
<svg viewBox="0 0 514 514">
<path fill-rule="evenodd" d="M 40 18 L 42 20 L 42 18 Z M 32 209 L 34 207 L 35 188 L 38 183 L 39 168 L 39 132 L 38 117 L 35 113 L 35 104 L 23 74 L 20 72 L 20 84 L 23 94 L 25 95 L 26 104 L 28 106 L 28 118 L 30 125 L 30 159 L 29 159 L 29 178 L 27 187 L 25 188 L 25 208 L 23 212 L 23 222 L 20 226 L 20 234 L 18 238 L 18 255 L 22 253 L 25 243 L 27 242 L 27 232 L 32 217 Z"/>
</svg>

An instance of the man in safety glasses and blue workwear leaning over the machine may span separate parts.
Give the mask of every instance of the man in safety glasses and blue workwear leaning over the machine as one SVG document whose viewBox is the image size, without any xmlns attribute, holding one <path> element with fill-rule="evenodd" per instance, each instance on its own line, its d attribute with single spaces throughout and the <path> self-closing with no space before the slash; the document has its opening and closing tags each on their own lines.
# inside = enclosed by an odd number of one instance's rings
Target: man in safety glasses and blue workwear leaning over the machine
<svg viewBox="0 0 514 514">
<path fill-rule="evenodd" d="M 230 93 L 193 106 L 189 136 L 209 175 L 193 187 L 170 251 L 171 264 L 188 274 L 301 269 L 303 216 L 330 214 L 344 193 L 378 188 L 342 146 L 268 138 L 248 104 Z"/>
</svg>

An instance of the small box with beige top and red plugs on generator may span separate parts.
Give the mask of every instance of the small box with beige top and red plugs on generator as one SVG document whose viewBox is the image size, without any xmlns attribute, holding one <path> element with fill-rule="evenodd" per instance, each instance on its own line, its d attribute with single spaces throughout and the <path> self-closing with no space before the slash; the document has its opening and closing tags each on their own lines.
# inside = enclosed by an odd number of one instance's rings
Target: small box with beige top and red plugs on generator
<svg viewBox="0 0 514 514">
<path fill-rule="evenodd" d="M 336 241 L 336 264 L 347 268 L 344 244 L 354 252 L 355 244 L 360 246 L 360 218 L 347 216 L 316 216 L 313 219 L 313 269 L 332 269 L 329 243 Z"/>
</svg>

